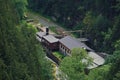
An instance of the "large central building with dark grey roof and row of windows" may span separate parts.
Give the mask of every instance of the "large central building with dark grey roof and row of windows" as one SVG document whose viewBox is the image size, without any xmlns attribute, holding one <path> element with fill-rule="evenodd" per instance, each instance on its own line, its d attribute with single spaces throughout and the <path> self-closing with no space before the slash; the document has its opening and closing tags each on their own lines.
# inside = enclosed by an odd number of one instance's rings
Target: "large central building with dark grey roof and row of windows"
<svg viewBox="0 0 120 80">
<path fill-rule="evenodd" d="M 83 48 L 87 51 L 93 51 L 91 48 L 85 45 L 85 43 L 78 41 L 77 39 L 70 36 L 66 36 L 59 40 L 59 50 L 64 55 L 70 55 L 71 50 L 74 48 Z"/>
</svg>

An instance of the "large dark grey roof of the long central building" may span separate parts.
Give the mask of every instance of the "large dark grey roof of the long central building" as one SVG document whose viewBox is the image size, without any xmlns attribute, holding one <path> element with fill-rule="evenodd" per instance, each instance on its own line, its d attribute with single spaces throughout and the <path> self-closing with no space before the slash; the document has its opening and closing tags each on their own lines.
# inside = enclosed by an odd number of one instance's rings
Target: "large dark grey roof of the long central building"
<svg viewBox="0 0 120 80">
<path fill-rule="evenodd" d="M 69 48 L 70 50 L 72 50 L 73 48 L 84 48 L 84 49 L 93 51 L 91 48 L 89 48 L 84 43 L 82 43 L 82 42 L 78 41 L 77 39 L 70 37 L 70 36 L 66 36 L 66 37 L 60 39 L 59 42 L 62 43 L 67 48 Z"/>
</svg>

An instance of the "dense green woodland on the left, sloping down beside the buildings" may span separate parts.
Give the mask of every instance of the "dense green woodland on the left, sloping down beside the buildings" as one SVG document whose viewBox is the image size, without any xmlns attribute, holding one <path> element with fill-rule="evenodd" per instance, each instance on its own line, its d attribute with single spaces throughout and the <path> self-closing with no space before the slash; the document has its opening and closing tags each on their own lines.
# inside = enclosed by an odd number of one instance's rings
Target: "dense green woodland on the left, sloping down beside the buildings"
<svg viewBox="0 0 120 80">
<path fill-rule="evenodd" d="M 0 0 L 0 80 L 53 80 L 36 29 L 21 20 L 23 1 Z"/>
</svg>

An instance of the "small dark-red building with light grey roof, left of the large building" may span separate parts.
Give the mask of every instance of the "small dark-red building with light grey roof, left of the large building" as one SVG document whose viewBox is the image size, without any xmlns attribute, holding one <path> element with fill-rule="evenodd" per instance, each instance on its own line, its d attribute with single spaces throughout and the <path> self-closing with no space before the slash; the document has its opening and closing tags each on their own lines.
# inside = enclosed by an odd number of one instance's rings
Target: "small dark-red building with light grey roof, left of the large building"
<svg viewBox="0 0 120 80">
<path fill-rule="evenodd" d="M 52 35 L 45 35 L 42 37 L 41 42 L 48 50 L 54 51 L 59 49 L 58 40 Z"/>
</svg>

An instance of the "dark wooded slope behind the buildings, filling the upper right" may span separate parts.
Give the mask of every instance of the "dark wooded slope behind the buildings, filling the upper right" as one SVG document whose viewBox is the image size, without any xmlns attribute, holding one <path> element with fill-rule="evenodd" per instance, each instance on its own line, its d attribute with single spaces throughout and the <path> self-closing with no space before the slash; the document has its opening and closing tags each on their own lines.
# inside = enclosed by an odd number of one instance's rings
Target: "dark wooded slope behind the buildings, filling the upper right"
<svg viewBox="0 0 120 80">
<path fill-rule="evenodd" d="M 120 38 L 120 0 L 28 0 L 28 5 L 67 29 L 83 30 L 97 51 L 113 52 Z"/>
</svg>

